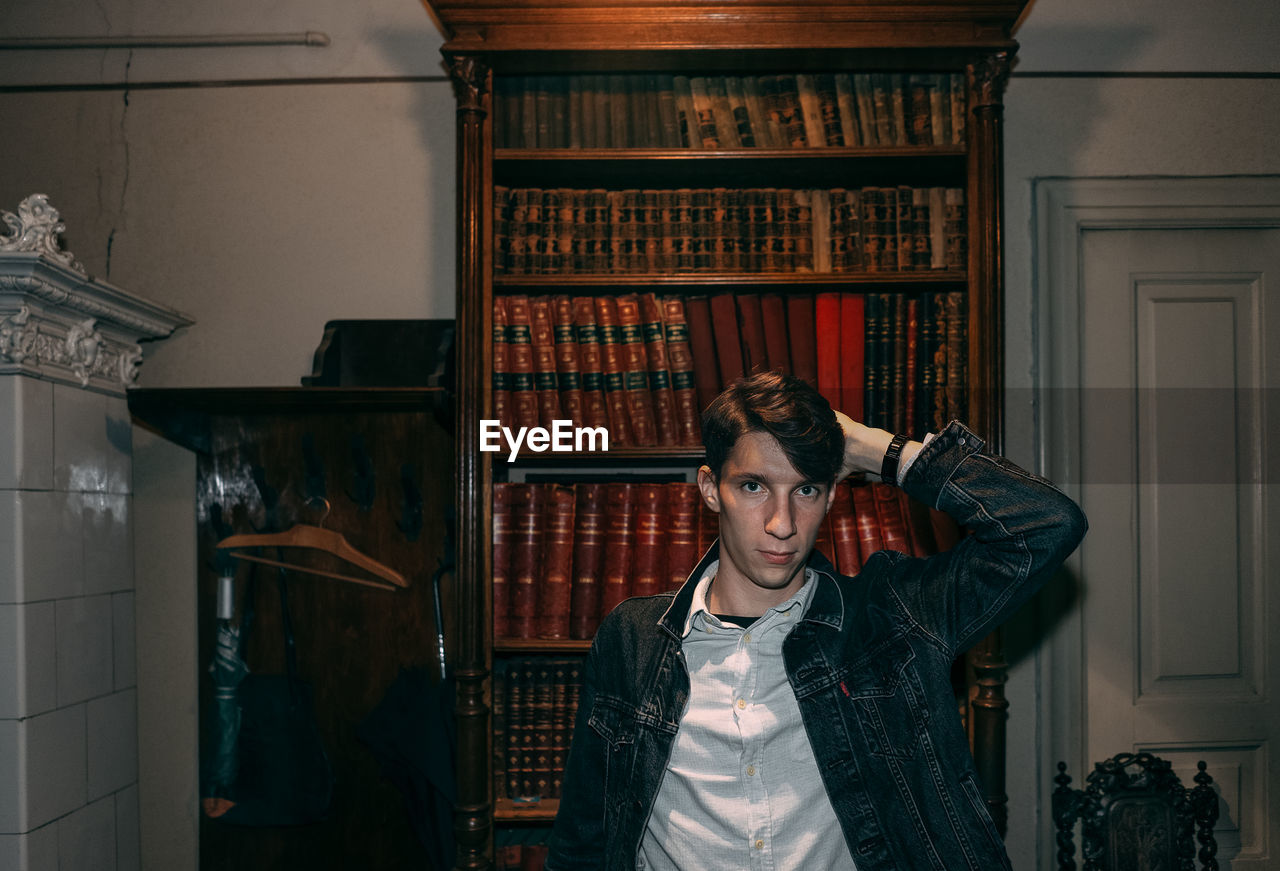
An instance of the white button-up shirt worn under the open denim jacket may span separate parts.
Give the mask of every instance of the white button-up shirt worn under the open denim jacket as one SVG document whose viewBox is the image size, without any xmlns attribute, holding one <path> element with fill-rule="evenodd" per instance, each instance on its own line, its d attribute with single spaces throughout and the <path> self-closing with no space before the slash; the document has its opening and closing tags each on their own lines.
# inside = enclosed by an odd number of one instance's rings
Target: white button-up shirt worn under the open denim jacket
<svg viewBox="0 0 1280 871">
<path fill-rule="evenodd" d="M 640 843 L 643 871 L 856 871 L 827 798 L 782 640 L 813 596 L 795 596 L 744 629 L 707 608 L 719 564 L 685 621 L 689 704 Z"/>
</svg>

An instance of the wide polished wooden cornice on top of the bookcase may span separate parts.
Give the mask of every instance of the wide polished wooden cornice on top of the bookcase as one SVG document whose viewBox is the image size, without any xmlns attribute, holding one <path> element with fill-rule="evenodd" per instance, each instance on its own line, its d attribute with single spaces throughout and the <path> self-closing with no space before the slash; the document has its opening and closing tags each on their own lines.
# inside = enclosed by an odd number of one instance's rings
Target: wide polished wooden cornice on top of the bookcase
<svg viewBox="0 0 1280 871">
<path fill-rule="evenodd" d="M 444 53 L 1011 49 L 1027 0 L 424 0 Z"/>
</svg>

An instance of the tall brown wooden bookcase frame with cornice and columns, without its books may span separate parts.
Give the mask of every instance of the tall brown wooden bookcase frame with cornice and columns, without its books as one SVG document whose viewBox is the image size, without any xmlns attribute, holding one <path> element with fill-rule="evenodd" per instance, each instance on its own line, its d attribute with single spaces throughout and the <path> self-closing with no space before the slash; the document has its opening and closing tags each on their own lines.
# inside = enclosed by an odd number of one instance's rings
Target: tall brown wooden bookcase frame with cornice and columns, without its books
<svg viewBox="0 0 1280 871">
<path fill-rule="evenodd" d="M 1025 0 L 425 0 L 445 35 L 457 95 L 457 722 L 458 868 L 488 868 L 495 825 L 549 824 L 554 803 L 517 810 L 494 795 L 490 678 L 495 658 L 580 656 L 581 642 L 504 642 L 492 630 L 492 497 L 506 457 L 481 452 L 480 420 L 493 418 L 494 295 L 709 295 L 840 291 L 961 291 L 966 327 L 966 423 L 1001 447 L 1002 94 L 1016 49 L 1011 29 Z M 498 94 L 517 77 L 739 76 L 795 73 L 955 74 L 965 133 L 948 145 L 690 149 L 520 147 L 499 138 Z M 504 142 L 507 145 L 504 145 Z M 946 184 L 965 202 L 963 268 L 934 273 L 495 274 L 494 188 L 690 186 L 859 188 Z M 596 466 L 692 465 L 689 448 L 630 447 Z M 544 462 L 530 457 L 529 464 Z M 1005 661 L 998 634 L 968 656 L 974 754 L 998 825 L 1006 818 Z"/>
</svg>

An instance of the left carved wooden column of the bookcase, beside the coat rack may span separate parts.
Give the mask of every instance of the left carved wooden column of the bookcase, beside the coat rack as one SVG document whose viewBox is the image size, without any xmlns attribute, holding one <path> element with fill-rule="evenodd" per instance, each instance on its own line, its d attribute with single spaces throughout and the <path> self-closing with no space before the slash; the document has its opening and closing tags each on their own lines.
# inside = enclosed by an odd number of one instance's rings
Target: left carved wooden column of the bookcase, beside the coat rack
<svg viewBox="0 0 1280 871">
<path fill-rule="evenodd" d="M 486 247 L 492 237 L 489 206 L 485 201 L 489 172 L 489 143 L 485 131 L 489 105 L 489 70 L 471 56 L 449 59 L 449 73 L 458 100 L 458 289 L 457 289 L 457 507 L 458 578 L 457 625 L 458 653 L 457 725 L 460 760 L 489 758 L 489 706 L 485 681 L 489 657 L 485 633 L 490 620 L 490 566 L 488 539 L 492 529 L 489 505 L 489 455 L 481 453 L 480 419 L 490 407 L 492 375 L 485 338 L 492 327 Z M 476 288 L 481 288 L 477 293 Z M 458 795 L 453 813 L 460 870 L 489 868 L 492 835 L 490 777 L 484 766 L 460 766 Z"/>
</svg>

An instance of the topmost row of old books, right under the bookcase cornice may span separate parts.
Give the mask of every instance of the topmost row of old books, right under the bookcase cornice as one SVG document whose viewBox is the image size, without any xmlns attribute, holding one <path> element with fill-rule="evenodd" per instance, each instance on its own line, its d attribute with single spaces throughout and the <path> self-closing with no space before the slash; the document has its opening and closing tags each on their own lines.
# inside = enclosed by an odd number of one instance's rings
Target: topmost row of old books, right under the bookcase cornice
<svg viewBox="0 0 1280 871">
<path fill-rule="evenodd" d="M 804 149 L 965 141 L 956 73 L 509 76 L 508 149 Z"/>
</svg>

